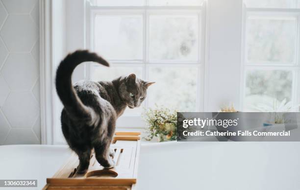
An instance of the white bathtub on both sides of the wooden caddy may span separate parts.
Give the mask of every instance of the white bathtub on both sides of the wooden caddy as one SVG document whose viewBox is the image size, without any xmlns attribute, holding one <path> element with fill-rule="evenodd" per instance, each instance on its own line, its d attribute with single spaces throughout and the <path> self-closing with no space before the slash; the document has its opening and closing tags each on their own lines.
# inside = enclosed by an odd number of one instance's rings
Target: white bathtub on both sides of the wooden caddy
<svg viewBox="0 0 300 190">
<path fill-rule="evenodd" d="M 0 146 L 0 179 L 37 179 L 40 190 L 69 155 L 67 146 Z M 300 190 L 299 176 L 300 142 L 147 143 L 142 144 L 137 187 Z"/>
</svg>

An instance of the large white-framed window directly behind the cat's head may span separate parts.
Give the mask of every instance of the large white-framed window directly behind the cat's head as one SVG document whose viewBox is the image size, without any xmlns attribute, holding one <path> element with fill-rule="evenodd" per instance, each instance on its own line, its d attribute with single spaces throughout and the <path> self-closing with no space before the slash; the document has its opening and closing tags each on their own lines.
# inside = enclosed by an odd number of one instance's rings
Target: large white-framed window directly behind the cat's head
<svg viewBox="0 0 300 190">
<path fill-rule="evenodd" d="M 143 109 L 155 104 L 179 111 L 202 109 L 203 0 L 91 2 L 90 48 L 111 67 L 91 64 L 89 78 L 112 80 L 135 73 L 156 82 L 141 108 L 126 109 L 119 127 L 144 126 Z"/>
</svg>

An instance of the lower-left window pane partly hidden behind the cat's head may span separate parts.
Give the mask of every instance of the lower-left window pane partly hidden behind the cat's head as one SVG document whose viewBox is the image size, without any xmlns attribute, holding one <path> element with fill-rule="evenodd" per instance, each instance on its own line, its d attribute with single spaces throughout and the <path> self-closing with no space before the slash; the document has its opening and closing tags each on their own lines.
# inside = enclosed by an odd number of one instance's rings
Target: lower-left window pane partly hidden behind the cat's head
<svg viewBox="0 0 300 190">
<path fill-rule="evenodd" d="M 143 78 L 142 67 L 101 67 L 98 65 L 92 66 L 91 80 L 93 81 L 112 81 L 122 75 L 134 73 L 138 78 Z M 144 104 L 139 108 L 126 108 L 124 115 L 141 114 Z"/>
</svg>

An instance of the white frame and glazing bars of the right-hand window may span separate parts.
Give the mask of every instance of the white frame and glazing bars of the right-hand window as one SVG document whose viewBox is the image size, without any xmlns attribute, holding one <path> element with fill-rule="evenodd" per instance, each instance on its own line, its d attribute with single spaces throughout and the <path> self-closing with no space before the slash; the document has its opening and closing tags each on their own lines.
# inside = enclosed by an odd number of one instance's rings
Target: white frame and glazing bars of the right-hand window
<svg viewBox="0 0 300 190">
<path fill-rule="evenodd" d="M 296 2 L 295 2 L 296 3 Z M 247 18 L 252 15 L 271 15 L 278 17 L 294 16 L 296 18 L 296 45 L 295 57 L 293 63 L 282 62 L 256 62 L 250 63 L 247 60 Z M 243 5 L 243 33 L 242 33 L 242 60 L 241 60 L 241 108 L 245 109 L 246 98 L 246 72 L 248 70 L 281 70 L 292 71 L 292 92 L 291 101 L 293 105 L 300 103 L 300 8 L 247 8 L 246 4 Z"/>
</svg>

